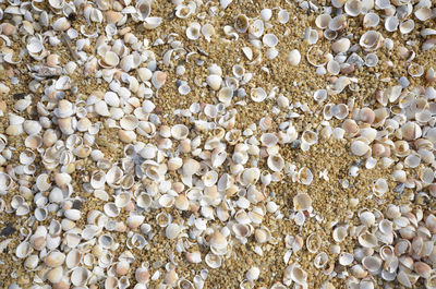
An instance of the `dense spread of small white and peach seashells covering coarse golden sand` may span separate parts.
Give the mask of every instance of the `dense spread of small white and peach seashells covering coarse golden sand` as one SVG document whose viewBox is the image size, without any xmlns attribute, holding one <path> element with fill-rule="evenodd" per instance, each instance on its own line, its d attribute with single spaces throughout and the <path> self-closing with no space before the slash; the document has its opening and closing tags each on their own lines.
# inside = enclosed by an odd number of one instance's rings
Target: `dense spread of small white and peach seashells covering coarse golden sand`
<svg viewBox="0 0 436 289">
<path fill-rule="evenodd" d="M 11 76 L 10 84 L 0 83 L 2 99 L 12 97 L 13 86 L 23 82 L 29 92 L 9 110 L 1 106 L 8 124 L 0 134 L 0 213 L 14 215 L 23 226 L 16 245 L 13 238 L 0 239 L 0 252 L 13 252 L 14 262 L 33 273 L 31 288 L 144 289 L 158 280 L 158 288 L 202 289 L 209 272 L 233 257 L 233 246 L 247 242 L 254 242 L 253 251 L 261 256 L 268 246 L 284 243 L 287 252 L 277 260 L 284 261 L 286 269 L 269 288 L 313 288 L 307 266 L 292 258 L 300 250 L 312 256 L 319 274 L 344 279 L 348 288 L 375 288 L 377 279 L 391 284 L 390 288 L 419 282 L 436 288 L 434 210 L 393 204 L 384 212 L 360 208 L 329 225 L 329 245 L 317 232 L 277 240 L 264 224 L 267 216 L 289 219 L 303 229 L 308 218 L 323 220 L 313 207 L 311 190 L 296 193 L 290 209 L 281 209 L 268 188 L 284 180 L 307 188 L 315 178 L 328 181 L 327 170 L 293 164 L 282 148 L 305 154 L 330 139 L 347 143 L 350 154 L 360 159 L 350 166 L 350 179 L 359 178 L 361 170 L 392 171 L 374 180 L 367 188 L 370 197 L 382 202 L 388 191 L 408 191 L 410 202 L 423 205 L 436 197 L 435 71 L 416 61 L 416 43 L 395 47 L 397 43 L 385 37 L 397 31 L 408 35 L 416 25 L 423 38 L 419 49 L 434 49 L 436 29 L 427 25 L 436 19 L 432 1 L 334 0 L 331 7 L 294 1 L 291 4 L 301 13 L 310 10 L 317 16 L 301 35 L 307 50 L 290 47 L 284 55 L 278 49 L 282 35 L 270 32 L 274 25 L 291 24 L 293 15 L 282 8 L 263 9 L 254 19 L 241 13 L 234 22 L 216 27 L 208 23 L 209 16 L 238 3 L 208 2 L 207 12 L 197 13 L 203 1 L 173 0 L 174 17 L 190 20 L 184 34 L 147 39 L 126 24 L 145 31 L 165 25 L 164 19 L 153 16 L 158 1 L 9 0 L 0 4 L 5 7 L 0 9 L 1 65 L 32 61 L 24 65 L 29 80 Z M 77 27 L 74 17 L 86 24 Z M 352 17 L 363 20 L 358 41 L 347 33 Z M 184 77 L 186 68 L 180 63 L 205 64 L 198 56 L 207 51 L 187 48 L 199 38 L 207 43 L 219 38 L 225 44 L 249 38 L 241 48 L 246 64 L 223 70 L 209 63 L 207 75 Z M 26 46 L 15 49 L 16 40 Z M 331 41 L 330 50 L 323 50 L 324 40 Z M 68 61 L 53 52 L 63 45 Z M 155 53 L 155 47 L 164 45 L 165 53 Z M 408 74 L 380 80 L 397 84 L 377 91 L 372 97 L 375 109 L 356 106 L 353 97 L 337 101 L 337 95 L 360 92 L 359 77 L 349 76 L 354 70 L 393 69 L 391 61 L 378 63 L 377 51 L 395 49 Z M 328 75 L 325 87 L 307 92 L 322 107 L 324 120 L 318 127 L 300 131 L 295 123 L 300 113 L 310 110 L 307 105 L 291 103 L 277 86 L 253 84 L 262 63 L 279 58 L 294 69 L 307 61 L 318 75 Z M 261 70 L 269 73 L 267 67 Z M 170 72 L 178 80 L 169 80 Z M 108 88 L 83 95 L 77 75 L 96 79 Z M 413 79 L 424 79 L 426 86 L 413 86 Z M 208 89 L 213 100 L 173 110 L 179 123 L 169 125 L 156 112 L 155 101 L 170 82 L 181 96 L 190 96 L 195 86 Z M 238 129 L 237 108 L 266 101 L 274 104 L 268 115 Z M 276 123 L 271 116 L 280 111 L 287 118 Z M 99 147 L 105 130 L 116 130 L 122 143 L 117 159 Z M 11 143 L 16 137 L 22 137 L 23 148 Z M 340 185 L 346 190 L 351 184 L 343 180 Z M 101 209 L 84 214 L 85 195 L 100 201 Z M 356 207 L 360 201 L 356 196 L 350 204 Z M 186 212 L 191 214 L 183 215 Z M 156 217 L 148 224 L 152 214 Z M 180 216 L 190 217 L 180 220 Z M 168 250 L 168 262 L 160 266 L 140 260 L 141 266 L 133 267 L 138 256 L 132 252 L 150 250 L 157 227 L 177 252 Z M 125 236 L 123 244 L 116 238 L 120 233 Z M 353 252 L 340 245 L 346 240 L 353 241 Z M 192 278 L 182 276 L 178 265 L 183 264 L 178 264 L 175 253 L 184 262 L 205 266 Z M 262 269 L 253 266 L 240 287 L 254 288 L 261 277 Z M 9 288 L 21 287 L 13 282 Z M 323 288 L 334 285 L 327 281 Z"/>
</svg>

